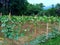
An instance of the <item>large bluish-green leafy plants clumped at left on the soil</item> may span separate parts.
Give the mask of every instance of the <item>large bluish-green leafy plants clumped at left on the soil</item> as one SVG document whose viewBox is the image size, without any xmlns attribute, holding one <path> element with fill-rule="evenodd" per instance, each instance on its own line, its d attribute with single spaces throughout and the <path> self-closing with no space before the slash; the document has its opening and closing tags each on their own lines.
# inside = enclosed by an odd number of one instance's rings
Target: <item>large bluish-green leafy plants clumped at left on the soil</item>
<svg viewBox="0 0 60 45">
<path fill-rule="evenodd" d="M 1 22 L 1 32 L 4 34 L 4 37 L 17 40 L 20 28 L 18 27 L 17 29 L 14 29 L 16 26 L 15 22 L 13 20 L 8 20 L 8 17 L 2 17 Z"/>
</svg>

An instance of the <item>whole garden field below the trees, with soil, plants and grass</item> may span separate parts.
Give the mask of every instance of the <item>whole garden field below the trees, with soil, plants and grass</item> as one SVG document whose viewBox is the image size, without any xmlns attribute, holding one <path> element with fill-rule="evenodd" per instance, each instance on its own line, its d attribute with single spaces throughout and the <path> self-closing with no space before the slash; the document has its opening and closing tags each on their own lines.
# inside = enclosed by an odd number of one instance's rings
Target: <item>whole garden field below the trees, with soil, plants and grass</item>
<svg viewBox="0 0 60 45">
<path fill-rule="evenodd" d="M 60 45 L 60 17 L 0 16 L 0 45 Z"/>
</svg>

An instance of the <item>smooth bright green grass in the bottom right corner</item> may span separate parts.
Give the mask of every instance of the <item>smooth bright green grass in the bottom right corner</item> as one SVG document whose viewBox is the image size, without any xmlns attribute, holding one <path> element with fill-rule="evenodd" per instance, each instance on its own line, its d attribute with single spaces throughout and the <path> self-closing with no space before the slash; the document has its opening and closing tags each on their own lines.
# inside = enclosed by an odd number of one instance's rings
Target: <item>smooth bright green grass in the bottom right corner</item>
<svg viewBox="0 0 60 45">
<path fill-rule="evenodd" d="M 60 45 L 60 35 L 54 39 L 49 39 L 44 43 L 40 43 L 39 45 Z"/>
</svg>

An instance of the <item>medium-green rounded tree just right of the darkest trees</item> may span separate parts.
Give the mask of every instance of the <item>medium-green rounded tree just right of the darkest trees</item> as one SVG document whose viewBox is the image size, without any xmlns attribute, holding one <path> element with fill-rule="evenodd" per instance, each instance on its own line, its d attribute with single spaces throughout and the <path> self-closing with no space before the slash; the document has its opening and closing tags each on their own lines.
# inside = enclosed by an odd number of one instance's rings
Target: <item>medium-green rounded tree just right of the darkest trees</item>
<svg viewBox="0 0 60 45">
<path fill-rule="evenodd" d="M 27 11 L 25 13 L 25 15 L 37 15 L 37 14 L 41 14 L 41 12 L 43 11 L 43 3 L 40 4 L 28 4 L 27 6 Z"/>
</svg>

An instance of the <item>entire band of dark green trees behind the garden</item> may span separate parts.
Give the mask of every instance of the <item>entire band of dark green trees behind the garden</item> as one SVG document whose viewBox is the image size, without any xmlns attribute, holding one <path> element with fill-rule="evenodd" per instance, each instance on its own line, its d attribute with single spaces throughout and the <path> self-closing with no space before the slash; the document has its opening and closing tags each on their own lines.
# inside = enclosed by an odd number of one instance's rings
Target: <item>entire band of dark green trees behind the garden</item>
<svg viewBox="0 0 60 45">
<path fill-rule="evenodd" d="M 47 15 L 56 16 L 60 14 L 60 4 L 51 5 L 49 9 L 44 9 L 44 4 L 30 4 L 27 0 L 2 0 L 0 2 L 0 12 L 12 15 Z"/>
</svg>

